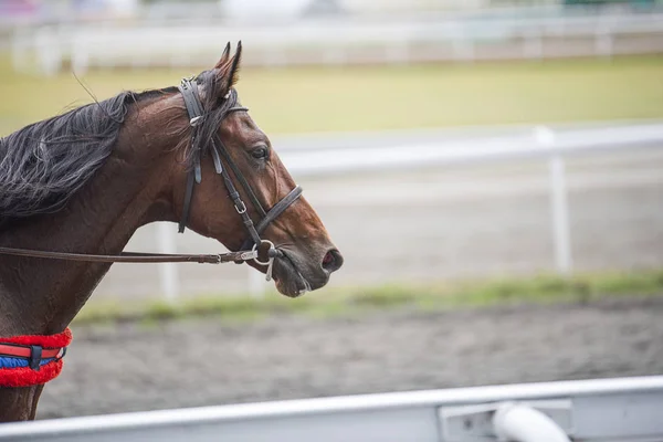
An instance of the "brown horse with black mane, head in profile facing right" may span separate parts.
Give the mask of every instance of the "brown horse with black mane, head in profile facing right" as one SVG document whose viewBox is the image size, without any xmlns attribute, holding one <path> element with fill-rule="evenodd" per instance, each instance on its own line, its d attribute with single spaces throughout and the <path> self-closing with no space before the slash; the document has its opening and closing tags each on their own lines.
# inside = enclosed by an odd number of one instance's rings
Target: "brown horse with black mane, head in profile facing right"
<svg viewBox="0 0 663 442">
<path fill-rule="evenodd" d="M 168 87 L 125 92 L 2 138 L 0 246 L 117 255 L 139 227 L 182 219 L 231 251 L 251 244 L 244 223 L 259 224 L 261 217 L 251 201 L 274 208 L 295 182 L 239 107 L 240 56 L 241 44 L 233 56 L 228 45 L 217 65 L 196 77 L 202 118 L 191 118 L 181 88 Z M 210 155 L 214 141 L 225 148 L 223 165 L 218 152 Z M 219 173 L 228 161 L 232 177 Z M 240 196 L 229 194 L 227 179 L 244 179 L 257 201 L 243 186 Z M 244 219 L 234 197 L 248 201 Z M 343 264 L 303 198 L 263 230 L 278 250 L 273 277 L 284 295 L 324 286 Z M 0 255 L 0 337 L 63 332 L 110 265 Z M 0 387 L 0 422 L 34 419 L 42 389 Z"/>
</svg>

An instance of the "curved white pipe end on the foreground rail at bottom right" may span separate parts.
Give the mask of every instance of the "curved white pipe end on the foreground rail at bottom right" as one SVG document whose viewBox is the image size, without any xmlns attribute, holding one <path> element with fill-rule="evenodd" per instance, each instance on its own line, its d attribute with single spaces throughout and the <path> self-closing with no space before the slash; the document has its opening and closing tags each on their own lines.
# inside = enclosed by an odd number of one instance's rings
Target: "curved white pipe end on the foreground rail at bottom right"
<svg viewBox="0 0 663 442">
<path fill-rule="evenodd" d="M 522 403 L 506 402 L 499 406 L 493 415 L 493 427 L 501 441 L 570 442 L 552 419 Z"/>
</svg>

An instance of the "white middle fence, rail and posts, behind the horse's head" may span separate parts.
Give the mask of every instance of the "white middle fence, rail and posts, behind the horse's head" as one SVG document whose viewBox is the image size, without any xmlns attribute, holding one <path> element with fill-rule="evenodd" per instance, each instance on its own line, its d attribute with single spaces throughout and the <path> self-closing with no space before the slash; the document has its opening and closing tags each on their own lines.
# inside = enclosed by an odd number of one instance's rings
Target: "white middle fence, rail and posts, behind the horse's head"
<svg viewBox="0 0 663 442">
<path fill-rule="evenodd" d="M 564 157 L 634 148 L 663 148 L 663 122 L 422 133 L 299 136 L 284 138 L 276 144 L 280 146 L 278 154 L 283 164 L 295 178 L 417 170 L 524 158 L 547 160 L 555 265 L 562 275 L 573 271 Z M 173 243 L 172 236 L 176 233 L 171 228 L 159 231 L 161 244 Z M 160 292 L 166 299 L 176 299 L 179 286 L 176 270 L 162 265 L 159 272 Z M 248 277 L 249 293 L 256 297 L 264 295 L 266 286 L 261 281 L 263 275 L 249 269 Z"/>
</svg>

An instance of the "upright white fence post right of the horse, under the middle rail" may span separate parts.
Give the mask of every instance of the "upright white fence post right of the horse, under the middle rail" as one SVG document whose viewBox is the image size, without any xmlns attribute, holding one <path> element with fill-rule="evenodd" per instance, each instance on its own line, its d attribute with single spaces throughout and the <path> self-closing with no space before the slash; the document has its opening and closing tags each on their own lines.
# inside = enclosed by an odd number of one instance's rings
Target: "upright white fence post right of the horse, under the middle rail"
<svg viewBox="0 0 663 442">
<path fill-rule="evenodd" d="M 555 146 L 555 133 L 548 127 L 536 127 L 535 138 L 541 146 Z M 561 155 L 552 154 L 548 162 L 548 170 L 550 173 L 550 213 L 552 218 L 555 265 L 557 271 L 566 276 L 571 273 L 573 263 L 569 233 L 566 170 Z"/>
</svg>

